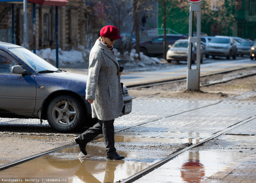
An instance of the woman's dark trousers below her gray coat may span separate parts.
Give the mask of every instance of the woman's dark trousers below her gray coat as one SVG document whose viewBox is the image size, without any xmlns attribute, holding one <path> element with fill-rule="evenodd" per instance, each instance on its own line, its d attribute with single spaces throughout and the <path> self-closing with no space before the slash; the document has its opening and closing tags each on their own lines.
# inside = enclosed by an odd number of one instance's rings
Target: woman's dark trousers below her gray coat
<svg viewBox="0 0 256 183">
<path fill-rule="evenodd" d="M 115 129 L 114 129 L 115 119 L 109 121 L 99 120 L 93 127 L 89 128 L 87 131 L 83 132 L 77 138 L 84 145 L 92 141 L 96 136 L 103 133 L 104 141 L 106 145 L 106 155 L 111 156 L 116 153 L 115 148 Z"/>
</svg>

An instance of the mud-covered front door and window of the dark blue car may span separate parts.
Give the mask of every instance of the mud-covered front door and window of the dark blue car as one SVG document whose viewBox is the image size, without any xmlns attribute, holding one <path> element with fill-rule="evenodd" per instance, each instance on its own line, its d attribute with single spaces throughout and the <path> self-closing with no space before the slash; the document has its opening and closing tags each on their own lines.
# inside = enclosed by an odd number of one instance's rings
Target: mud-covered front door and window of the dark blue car
<svg viewBox="0 0 256 183">
<path fill-rule="evenodd" d="M 14 74 L 11 68 L 21 65 L 11 55 L 0 51 L 0 117 L 33 113 L 36 88 L 31 74 Z"/>
</svg>

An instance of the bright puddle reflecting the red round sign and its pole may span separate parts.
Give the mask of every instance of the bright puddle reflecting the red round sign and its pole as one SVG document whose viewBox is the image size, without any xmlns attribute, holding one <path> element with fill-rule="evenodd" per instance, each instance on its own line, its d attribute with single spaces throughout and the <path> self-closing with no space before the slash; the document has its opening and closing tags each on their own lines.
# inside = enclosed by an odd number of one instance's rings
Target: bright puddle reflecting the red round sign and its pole
<svg viewBox="0 0 256 183">
<path fill-rule="evenodd" d="M 227 164 L 245 157 L 244 153 L 216 151 L 187 151 L 144 175 L 134 183 L 172 182 L 202 183 Z"/>
</svg>

